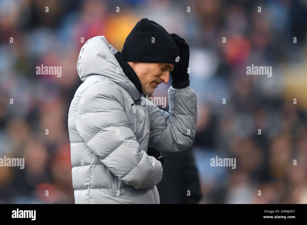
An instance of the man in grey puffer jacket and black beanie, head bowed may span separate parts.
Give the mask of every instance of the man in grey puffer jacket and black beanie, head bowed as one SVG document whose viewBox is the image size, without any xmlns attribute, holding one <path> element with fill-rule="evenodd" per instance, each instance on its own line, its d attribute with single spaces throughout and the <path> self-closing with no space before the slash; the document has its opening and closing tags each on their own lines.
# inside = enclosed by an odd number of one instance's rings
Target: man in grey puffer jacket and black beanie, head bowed
<svg viewBox="0 0 307 225">
<path fill-rule="evenodd" d="M 184 39 L 147 18 L 135 25 L 121 53 L 104 36 L 84 44 L 77 62 L 84 83 L 68 113 L 76 204 L 160 203 L 162 164 L 146 152 L 180 152 L 194 142 L 197 100 L 188 58 Z M 168 83 L 169 73 L 168 113 L 144 94 Z"/>
</svg>

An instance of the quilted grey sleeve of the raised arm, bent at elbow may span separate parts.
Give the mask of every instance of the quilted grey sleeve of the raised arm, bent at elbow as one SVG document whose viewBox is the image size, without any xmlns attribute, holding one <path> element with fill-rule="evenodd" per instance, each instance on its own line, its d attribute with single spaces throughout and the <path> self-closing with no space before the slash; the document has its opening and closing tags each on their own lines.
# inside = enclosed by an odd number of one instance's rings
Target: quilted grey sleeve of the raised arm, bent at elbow
<svg viewBox="0 0 307 225">
<path fill-rule="evenodd" d="M 161 152 L 180 152 L 192 146 L 197 120 L 197 98 L 192 88 L 168 90 L 169 112 L 148 105 L 148 146 Z"/>
</svg>

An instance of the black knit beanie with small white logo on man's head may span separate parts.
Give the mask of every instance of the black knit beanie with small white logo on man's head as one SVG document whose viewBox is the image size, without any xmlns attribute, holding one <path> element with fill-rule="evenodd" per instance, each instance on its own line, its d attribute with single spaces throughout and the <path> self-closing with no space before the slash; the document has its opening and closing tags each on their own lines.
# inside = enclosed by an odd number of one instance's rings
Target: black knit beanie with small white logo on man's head
<svg viewBox="0 0 307 225">
<path fill-rule="evenodd" d="M 170 34 L 161 25 L 147 18 L 141 19 L 134 26 L 121 52 L 126 62 L 161 62 L 175 65 L 179 55 L 180 50 Z"/>
</svg>

